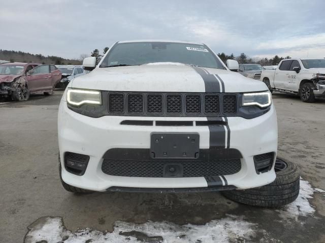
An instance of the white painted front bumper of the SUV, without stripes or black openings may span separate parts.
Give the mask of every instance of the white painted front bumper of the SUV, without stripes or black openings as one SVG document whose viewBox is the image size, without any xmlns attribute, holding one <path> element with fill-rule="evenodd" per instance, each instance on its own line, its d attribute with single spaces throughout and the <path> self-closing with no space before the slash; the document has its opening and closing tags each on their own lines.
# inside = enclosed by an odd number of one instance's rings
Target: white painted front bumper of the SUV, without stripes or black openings
<svg viewBox="0 0 325 243">
<path fill-rule="evenodd" d="M 206 117 L 130 117 L 103 116 L 92 118 L 78 114 L 61 101 L 58 113 L 58 142 L 60 157 L 65 152 L 89 155 L 87 169 L 82 176 L 68 172 L 62 164 L 62 180 L 75 187 L 106 191 L 115 188 L 207 188 L 204 177 L 148 178 L 111 176 L 103 173 L 104 154 L 112 148 L 150 148 L 151 133 L 198 133 L 200 149 L 209 149 L 210 131 L 207 126 L 135 126 L 121 125 L 122 120 L 183 120 L 206 121 Z M 272 105 L 264 115 L 245 119 L 228 117 L 230 148 L 242 154 L 241 170 L 225 175 L 228 186 L 240 189 L 263 186 L 275 180 L 273 167 L 270 171 L 257 174 L 253 156 L 277 151 L 277 120 Z M 275 156 L 274 156 L 275 158 Z M 63 163 L 63 159 L 61 159 Z M 225 188 L 226 189 L 226 188 Z"/>
</svg>

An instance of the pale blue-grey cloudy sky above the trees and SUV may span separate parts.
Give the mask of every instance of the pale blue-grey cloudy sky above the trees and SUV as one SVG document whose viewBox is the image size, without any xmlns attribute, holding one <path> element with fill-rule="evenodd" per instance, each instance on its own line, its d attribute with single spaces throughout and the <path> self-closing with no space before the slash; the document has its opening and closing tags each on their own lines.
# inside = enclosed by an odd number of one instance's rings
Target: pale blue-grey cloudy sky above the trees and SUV
<svg viewBox="0 0 325 243">
<path fill-rule="evenodd" d="M 325 1 L 7 0 L 0 49 L 79 58 L 128 39 L 205 43 L 250 57 L 325 57 Z"/>
</svg>

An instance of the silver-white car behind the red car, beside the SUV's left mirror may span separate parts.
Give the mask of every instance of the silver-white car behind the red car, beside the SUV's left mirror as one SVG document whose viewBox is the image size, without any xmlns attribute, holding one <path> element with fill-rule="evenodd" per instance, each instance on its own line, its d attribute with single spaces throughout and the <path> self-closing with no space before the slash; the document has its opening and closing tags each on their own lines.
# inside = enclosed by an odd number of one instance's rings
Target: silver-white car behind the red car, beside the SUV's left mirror
<svg viewBox="0 0 325 243">
<path fill-rule="evenodd" d="M 85 75 L 87 73 L 86 70 L 82 68 L 82 66 L 75 65 L 56 65 L 56 67 L 62 73 L 62 77 L 60 82 L 57 83 L 56 88 L 66 89 L 69 82 L 78 76 Z"/>
</svg>

